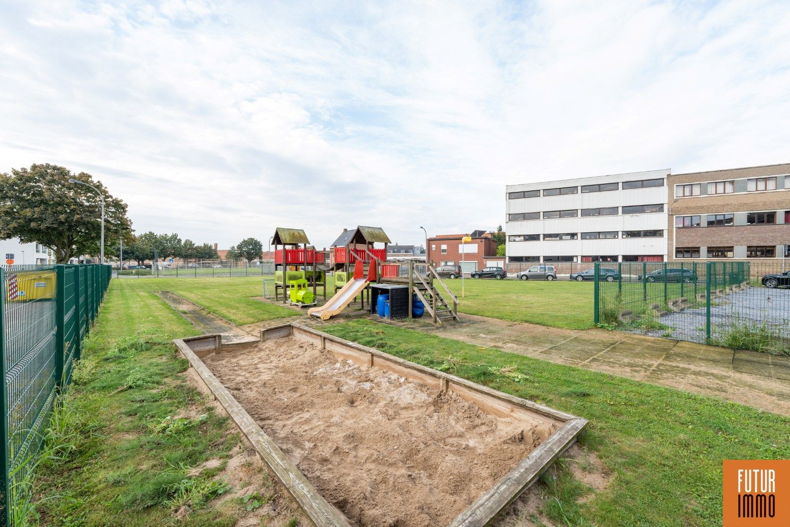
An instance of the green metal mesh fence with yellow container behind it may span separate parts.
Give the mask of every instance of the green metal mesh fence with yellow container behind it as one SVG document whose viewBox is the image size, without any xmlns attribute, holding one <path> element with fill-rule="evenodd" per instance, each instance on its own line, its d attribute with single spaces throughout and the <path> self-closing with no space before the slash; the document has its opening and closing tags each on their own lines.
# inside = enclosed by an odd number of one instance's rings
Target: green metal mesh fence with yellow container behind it
<svg viewBox="0 0 790 527">
<path fill-rule="evenodd" d="M 58 390 L 110 283 L 108 265 L 0 268 L 0 420 L 3 525 L 16 525 Z"/>
</svg>

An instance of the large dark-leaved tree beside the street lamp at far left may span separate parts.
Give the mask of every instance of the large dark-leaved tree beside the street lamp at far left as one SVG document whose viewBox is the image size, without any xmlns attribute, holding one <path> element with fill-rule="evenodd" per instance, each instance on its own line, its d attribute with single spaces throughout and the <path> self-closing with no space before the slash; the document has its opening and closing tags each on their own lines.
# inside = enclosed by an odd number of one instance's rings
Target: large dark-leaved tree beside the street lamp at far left
<svg viewBox="0 0 790 527">
<path fill-rule="evenodd" d="M 114 198 L 92 175 L 74 175 L 54 164 L 32 164 L 0 174 L 0 239 L 19 238 L 21 243 L 40 243 L 55 251 L 58 263 L 81 254 L 99 254 L 101 201 L 88 186 L 104 196 L 104 239 L 110 247 L 129 232 L 126 203 Z"/>
</svg>

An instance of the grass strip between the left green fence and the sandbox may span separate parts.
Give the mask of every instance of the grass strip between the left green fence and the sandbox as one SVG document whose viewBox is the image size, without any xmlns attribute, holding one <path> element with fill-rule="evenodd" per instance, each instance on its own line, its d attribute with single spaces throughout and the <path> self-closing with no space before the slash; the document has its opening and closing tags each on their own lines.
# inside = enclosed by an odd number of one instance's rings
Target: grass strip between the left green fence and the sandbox
<svg viewBox="0 0 790 527">
<path fill-rule="evenodd" d="M 180 375 L 188 364 L 171 339 L 195 329 L 150 292 L 164 280 L 147 287 L 152 281 L 111 282 L 47 434 L 33 525 L 230 526 L 249 514 L 244 491 L 222 479 L 241 445 L 235 427 Z M 216 295 L 205 284 L 173 281 Z M 265 472 L 258 480 L 274 485 Z M 262 503 L 279 499 L 260 494 Z M 288 500 L 276 505 L 294 512 Z M 179 519 L 176 510 L 191 512 Z"/>
</svg>

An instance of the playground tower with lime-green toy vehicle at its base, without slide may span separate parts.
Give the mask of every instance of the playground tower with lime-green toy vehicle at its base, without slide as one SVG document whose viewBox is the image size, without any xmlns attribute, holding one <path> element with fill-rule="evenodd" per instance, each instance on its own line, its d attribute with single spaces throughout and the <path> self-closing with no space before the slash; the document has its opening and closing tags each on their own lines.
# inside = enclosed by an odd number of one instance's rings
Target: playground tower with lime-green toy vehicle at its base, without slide
<svg viewBox="0 0 790 527">
<path fill-rule="evenodd" d="M 275 229 L 272 237 L 275 301 L 279 301 L 282 292 L 283 303 L 299 307 L 315 305 L 319 287 L 326 299 L 327 253 L 310 247 L 309 243 L 303 229 Z"/>
</svg>

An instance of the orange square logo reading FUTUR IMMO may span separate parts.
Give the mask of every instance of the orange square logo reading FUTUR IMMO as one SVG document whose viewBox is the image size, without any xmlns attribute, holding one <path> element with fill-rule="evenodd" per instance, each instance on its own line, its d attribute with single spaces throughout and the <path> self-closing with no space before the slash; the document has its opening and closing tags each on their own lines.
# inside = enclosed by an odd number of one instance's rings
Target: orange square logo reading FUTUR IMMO
<svg viewBox="0 0 790 527">
<path fill-rule="evenodd" d="M 790 525 L 790 460 L 724 460 L 724 527 Z"/>
</svg>

